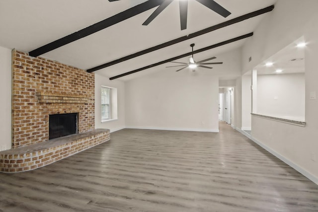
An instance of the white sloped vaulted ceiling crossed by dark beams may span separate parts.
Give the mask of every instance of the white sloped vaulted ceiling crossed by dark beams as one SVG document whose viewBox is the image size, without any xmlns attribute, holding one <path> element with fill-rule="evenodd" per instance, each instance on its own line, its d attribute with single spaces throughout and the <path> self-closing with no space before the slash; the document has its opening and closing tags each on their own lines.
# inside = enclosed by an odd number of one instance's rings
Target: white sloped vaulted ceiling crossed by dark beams
<svg viewBox="0 0 318 212">
<path fill-rule="evenodd" d="M 0 0 L 0 46 L 29 52 L 74 33 L 98 21 L 122 12 L 145 0 Z M 62 46 L 42 57 L 81 69 L 111 62 L 138 51 L 179 38 L 240 15 L 272 5 L 276 0 L 216 0 L 232 12 L 227 18 L 215 13 L 196 0 L 188 1 L 187 29 L 180 30 L 178 0 L 168 5 L 148 26 L 142 23 L 156 9 L 150 9 L 73 43 Z M 98 73 L 107 77 L 133 71 L 184 53 L 189 45 L 201 49 L 254 31 L 263 14 L 240 23 L 210 32 L 158 51 L 104 68 Z M 239 48 L 238 41 L 195 55 L 197 61 Z M 187 59 L 184 59 L 185 62 Z M 217 60 L 217 59 L 216 59 Z M 182 61 L 180 59 L 179 61 Z M 222 61 L 226 63 L 226 61 Z M 154 71 L 161 65 L 120 78 L 129 80 Z"/>
</svg>

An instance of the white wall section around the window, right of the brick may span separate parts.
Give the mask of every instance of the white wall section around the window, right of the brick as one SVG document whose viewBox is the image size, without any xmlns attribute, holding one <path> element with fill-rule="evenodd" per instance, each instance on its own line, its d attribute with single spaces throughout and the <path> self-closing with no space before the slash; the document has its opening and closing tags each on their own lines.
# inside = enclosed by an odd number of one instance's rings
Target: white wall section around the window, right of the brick
<svg viewBox="0 0 318 212">
<path fill-rule="evenodd" d="M 101 122 L 101 86 L 117 88 L 117 119 L 115 120 Z M 107 77 L 97 73 L 95 73 L 95 128 L 109 129 L 110 132 L 125 128 L 124 82 L 119 80 L 109 80 Z"/>
</svg>

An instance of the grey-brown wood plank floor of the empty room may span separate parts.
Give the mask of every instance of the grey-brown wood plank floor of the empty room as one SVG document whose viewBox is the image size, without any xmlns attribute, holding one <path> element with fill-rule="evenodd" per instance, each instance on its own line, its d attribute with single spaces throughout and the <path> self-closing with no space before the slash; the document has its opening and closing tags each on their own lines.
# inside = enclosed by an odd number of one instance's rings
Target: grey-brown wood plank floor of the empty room
<svg viewBox="0 0 318 212">
<path fill-rule="evenodd" d="M 0 173 L 3 212 L 307 212 L 318 185 L 225 123 L 124 129 L 29 172 Z"/>
</svg>

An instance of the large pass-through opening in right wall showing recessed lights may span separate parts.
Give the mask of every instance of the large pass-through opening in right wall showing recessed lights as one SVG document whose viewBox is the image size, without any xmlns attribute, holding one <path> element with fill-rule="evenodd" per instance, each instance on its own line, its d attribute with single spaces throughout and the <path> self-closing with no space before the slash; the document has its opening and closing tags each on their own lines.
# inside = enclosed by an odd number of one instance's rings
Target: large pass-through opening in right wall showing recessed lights
<svg viewBox="0 0 318 212">
<path fill-rule="evenodd" d="M 302 43 L 304 37 L 254 68 L 252 113 L 305 121 L 306 46 L 298 46 Z"/>
</svg>

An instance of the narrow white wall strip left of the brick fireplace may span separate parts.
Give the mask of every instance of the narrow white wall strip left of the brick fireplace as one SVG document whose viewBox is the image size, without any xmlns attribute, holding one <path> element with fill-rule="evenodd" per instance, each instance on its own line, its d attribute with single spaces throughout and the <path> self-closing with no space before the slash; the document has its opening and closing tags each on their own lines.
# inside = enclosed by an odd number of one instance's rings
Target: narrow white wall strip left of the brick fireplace
<svg viewBox="0 0 318 212">
<path fill-rule="evenodd" d="M 11 50 L 0 47 L 0 151 L 11 148 Z"/>
</svg>

